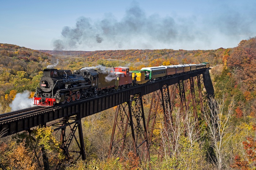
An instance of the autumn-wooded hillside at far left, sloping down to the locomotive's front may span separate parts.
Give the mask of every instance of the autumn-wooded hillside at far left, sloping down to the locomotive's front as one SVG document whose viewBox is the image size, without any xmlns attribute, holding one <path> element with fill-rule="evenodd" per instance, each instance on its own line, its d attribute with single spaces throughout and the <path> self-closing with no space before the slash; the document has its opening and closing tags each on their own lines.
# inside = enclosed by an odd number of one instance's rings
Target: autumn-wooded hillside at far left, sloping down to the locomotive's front
<svg viewBox="0 0 256 170">
<path fill-rule="evenodd" d="M 0 44 L 0 114 L 10 111 L 16 93 L 35 91 L 52 55 L 13 44 Z"/>
</svg>

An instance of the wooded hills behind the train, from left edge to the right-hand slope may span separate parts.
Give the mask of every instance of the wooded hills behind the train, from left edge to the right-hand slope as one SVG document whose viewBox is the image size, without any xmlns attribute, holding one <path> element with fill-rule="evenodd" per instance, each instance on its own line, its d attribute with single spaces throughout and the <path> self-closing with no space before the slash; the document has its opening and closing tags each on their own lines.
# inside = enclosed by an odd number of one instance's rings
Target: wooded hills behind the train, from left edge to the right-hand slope
<svg viewBox="0 0 256 170">
<path fill-rule="evenodd" d="M 231 49 L 216 50 L 108 50 L 108 51 L 50 51 L 33 50 L 13 44 L 0 44 L 0 107 L 10 110 L 16 93 L 34 92 L 47 65 L 57 69 L 77 70 L 81 67 L 103 65 L 125 66 L 140 70 L 146 66 L 209 62 L 221 64 Z M 58 61 L 58 63 L 57 63 Z"/>
</svg>

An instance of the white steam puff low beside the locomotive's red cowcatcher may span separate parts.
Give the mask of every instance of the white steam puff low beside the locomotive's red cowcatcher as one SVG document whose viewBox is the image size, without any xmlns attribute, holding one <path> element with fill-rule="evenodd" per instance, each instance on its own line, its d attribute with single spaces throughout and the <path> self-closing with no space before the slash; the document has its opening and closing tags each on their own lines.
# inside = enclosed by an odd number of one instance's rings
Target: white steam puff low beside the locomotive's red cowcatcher
<svg viewBox="0 0 256 170">
<path fill-rule="evenodd" d="M 33 100 L 28 98 L 29 96 L 30 92 L 27 90 L 23 93 L 16 94 L 12 103 L 9 105 L 12 108 L 11 111 L 26 109 L 35 106 L 33 105 Z"/>
</svg>

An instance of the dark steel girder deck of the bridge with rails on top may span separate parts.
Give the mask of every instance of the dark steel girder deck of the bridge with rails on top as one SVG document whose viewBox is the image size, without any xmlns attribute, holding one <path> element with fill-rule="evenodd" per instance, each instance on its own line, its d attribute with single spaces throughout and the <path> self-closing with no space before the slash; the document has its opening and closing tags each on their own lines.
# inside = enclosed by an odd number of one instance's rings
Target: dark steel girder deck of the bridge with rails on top
<svg viewBox="0 0 256 170">
<path fill-rule="evenodd" d="M 22 111 L 15 111 L 11 114 L 0 115 L 0 132 L 7 130 L 3 136 L 29 130 L 32 127 L 45 125 L 48 122 L 78 114 L 79 118 L 93 115 L 111 107 L 120 105 L 130 100 L 130 96 L 141 93 L 141 95 L 152 93 L 162 88 L 163 85 L 173 85 L 180 80 L 187 80 L 190 77 L 203 74 L 205 70 L 191 72 L 175 77 L 169 77 L 155 82 L 150 82 L 135 87 L 119 90 L 114 93 L 104 94 L 98 97 L 81 99 L 63 105 L 52 107 L 28 108 Z M 8 116 L 4 116 L 8 115 Z"/>
</svg>

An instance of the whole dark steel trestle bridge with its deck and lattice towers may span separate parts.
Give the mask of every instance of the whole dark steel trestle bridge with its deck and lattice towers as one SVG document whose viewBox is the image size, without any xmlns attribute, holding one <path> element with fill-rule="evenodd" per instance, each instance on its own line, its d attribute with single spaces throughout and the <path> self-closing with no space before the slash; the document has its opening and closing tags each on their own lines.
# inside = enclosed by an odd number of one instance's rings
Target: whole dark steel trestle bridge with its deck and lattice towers
<svg viewBox="0 0 256 170">
<path fill-rule="evenodd" d="M 52 107 L 32 107 L 2 114 L 0 115 L 0 132 L 5 131 L 3 136 L 8 136 L 22 131 L 29 132 L 33 127 L 40 125 L 52 126 L 55 127 L 55 132 L 61 131 L 61 148 L 64 150 L 64 154 L 67 157 L 70 157 L 69 146 L 71 140 L 75 139 L 80 149 L 79 154 L 82 156 L 82 159 L 85 160 L 86 156 L 81 118 L 118 106 L 113 126 L 109 156 L 122 155 L 125 146 L 128 144 L 128 139 L 126 138 L 128 136 L 128 129 L 130 129 L 131 140 L 133 141 L 132 151 L 137 155 L 144 154 L 144 157 L 147 160 L 150 160 L 149 147 L 152 141 L 152 132 L 155 128 L 154 119 L 157 116 L 157 113 L 153 110 L 157 110 L 158 107 L 162 108 L 162 117 L 164 122 L 166 122 L 165 125 L 167 128 L 168 122 L 172 120 L 170 117 L 168 118 L 166 116 L 165 112 L 167 108 L 172 109 L 171 104 L 174 101 L 175 95 L 177 95 L 180 100 L 180 108 L 182 111 L 187 110 L 189 103 L 191 103 L 191 107 L 194 108 L 194 116 L 196 117 L 197 109 L 194 82 L 196 80 L 198 84 L 200 107 L 202 109 L 201 82 L 204 81 L 204 73 L 206 70 L 207 69 L 203 69 L 174 77 L 155 80 L 142 85 L 118 90 L 113 93 L 80 99 L 62 105 L 55 105 Z M 203 81 L 201 79 L 203 79 Z M 172 85 L 173 88 L 171 88 L 171 92 L 169 92 L 168 87 Z M 185 96 L 187 90 L 186 87 L 189 87 L 189 96 Z M 142 96 L 149 93 L 153 93 L 153 95 L 149 117 L 146 120 L 144 116 Z M 159 100 L 161 106 L 158 105 Z M 189 101 L 186 102 L 186 100 Z M 67 128 L 70 128 L 70 130 L 67 130 Z M 78 130 L 79 135 L 77 139 L 77 134 L 75 134 L 76 130 Z M 67 131 L 69 132 L 68 135 L 66 134 Z M 160 152 L 156 153 L 161 157 Z M 58 167 L 59 166 L 60 164 Z"/>
</svg>

